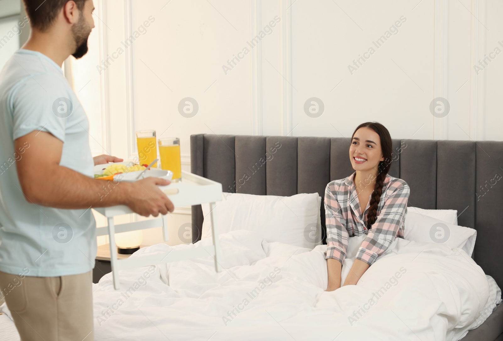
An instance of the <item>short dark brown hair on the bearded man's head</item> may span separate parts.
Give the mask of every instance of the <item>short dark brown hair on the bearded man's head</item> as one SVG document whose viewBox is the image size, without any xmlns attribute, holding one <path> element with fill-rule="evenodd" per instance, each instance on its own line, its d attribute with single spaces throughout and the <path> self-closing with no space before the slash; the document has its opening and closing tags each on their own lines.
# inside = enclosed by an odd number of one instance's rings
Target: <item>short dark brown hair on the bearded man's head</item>
<svg viewBox="0 0 503 341">
<path fill-rule="evenodd" d="M 30 24 L 39 31 L 47 31 L 56 19 L 59 11 L 69 0 L 23 0 Z M 82 12 L 85 0 L 74 0 L 77 9 Z"/>
</svg>

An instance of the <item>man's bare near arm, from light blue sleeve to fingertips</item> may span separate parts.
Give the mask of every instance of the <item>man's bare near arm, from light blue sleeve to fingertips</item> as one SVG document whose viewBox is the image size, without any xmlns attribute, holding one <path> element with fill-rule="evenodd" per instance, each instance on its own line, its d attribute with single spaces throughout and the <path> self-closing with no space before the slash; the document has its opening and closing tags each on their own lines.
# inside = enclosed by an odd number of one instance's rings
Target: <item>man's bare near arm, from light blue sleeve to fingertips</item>
<svg viewBox="0 0 503 341">
<path fill-rule="evenodd" d="M 25 143 L 30 147 L 25 148 L 16 167 L 21 188 L 30 202 L 67 209 L 127 205 L 144 216 L 167 214 L 174 209 L 171 200 L 157 187 L 170 184 L 168 180 L 150 177 L 119 184 L 95 180 L 59 165 L 63 142 L 52 134 L 31 132 L 16 139 L 15 150 Z"/>
</svg>

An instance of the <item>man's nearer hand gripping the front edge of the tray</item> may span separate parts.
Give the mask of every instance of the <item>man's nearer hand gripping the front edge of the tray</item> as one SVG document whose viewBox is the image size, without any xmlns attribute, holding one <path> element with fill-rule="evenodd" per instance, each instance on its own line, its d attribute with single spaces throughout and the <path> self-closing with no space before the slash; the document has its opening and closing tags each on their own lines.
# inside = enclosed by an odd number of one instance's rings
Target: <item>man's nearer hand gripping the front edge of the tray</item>
<svg viewBox="0 0 503 341">
<path fill-rule="evenodd" d="M 148 177 L 131 183 L 126 205 L 135 213 L 143 216 L 157 216 L 173 212 L 175 208 L 166 194 L 157 186 L 166 186 L 170 180 Z"/>
</svg>

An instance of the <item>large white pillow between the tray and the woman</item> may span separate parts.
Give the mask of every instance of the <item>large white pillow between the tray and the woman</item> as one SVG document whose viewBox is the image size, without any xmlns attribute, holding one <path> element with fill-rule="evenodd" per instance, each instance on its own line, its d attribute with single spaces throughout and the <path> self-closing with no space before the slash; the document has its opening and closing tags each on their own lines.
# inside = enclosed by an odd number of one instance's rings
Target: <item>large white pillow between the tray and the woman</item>
<svg viewBox="0 0 503 341">
<path fill-rule="evenodd" d="M 201 239 L 210 238 L 210 205 L 202 204 Z M 313 249 L 321 244 L 321 197 L 318 193 L 292 196 L 223 193 L 216 202 L 218 233 L 254 231 L 266 242 Z"/>
</svg>

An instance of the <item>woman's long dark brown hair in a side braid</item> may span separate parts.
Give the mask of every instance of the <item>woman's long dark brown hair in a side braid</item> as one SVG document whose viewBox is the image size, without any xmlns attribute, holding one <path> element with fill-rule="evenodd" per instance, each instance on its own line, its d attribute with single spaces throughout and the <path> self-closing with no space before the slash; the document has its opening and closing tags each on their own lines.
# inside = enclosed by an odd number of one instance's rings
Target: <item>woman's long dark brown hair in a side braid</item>
<svg viewBox="0 0 503 341">
<path fill-rule="evenodd" d="M 379 135 L 379 138 L 381 139 L 382 156 L 384 157 L 384 161 L 380 161 L 377 167 L 376 184 L 374 187 L 374 191 L 372 192 L 372 196 L 370 198 L 369 211 L 367 212 L 367 228 L 370 230 L 372 224 L 377 219 L 377 207 L 379 206 L 379 201 L 381 200 L 382 186 L 384 184 L 384 179 L 386 178 L 386 174 L 388 174 L 389 167 L 391 166 L 392 161 L 391 154 L 393 152 L 393 147 L 391 142 L 391 136 L 389 135 L 388 130 L 386 129 L 386 127 L 384 127 L 382 124 L 378 122 L 365 122 L 356 127 L 355 131 L 353 132 L 353 135 L 351 136 L 351 141 L 353 141 L 355 133 L 360 128 L 370 128 Z"/>
</svg>

